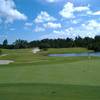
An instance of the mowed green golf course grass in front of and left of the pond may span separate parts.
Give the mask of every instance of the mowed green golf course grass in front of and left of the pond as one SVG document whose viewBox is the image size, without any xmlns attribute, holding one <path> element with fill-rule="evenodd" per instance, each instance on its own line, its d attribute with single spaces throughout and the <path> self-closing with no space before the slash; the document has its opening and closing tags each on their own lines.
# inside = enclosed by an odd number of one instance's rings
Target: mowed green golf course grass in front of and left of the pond
<svg viewBox="0 0 100 100">
<path fill-rule="evenodd" d="M 0 100 L 100 100 L 99 57 L 47 57 L 31 49 L 3 52 L 8 55 L 0 59 L 15 62 L 0 65 Z"/>
</svg>

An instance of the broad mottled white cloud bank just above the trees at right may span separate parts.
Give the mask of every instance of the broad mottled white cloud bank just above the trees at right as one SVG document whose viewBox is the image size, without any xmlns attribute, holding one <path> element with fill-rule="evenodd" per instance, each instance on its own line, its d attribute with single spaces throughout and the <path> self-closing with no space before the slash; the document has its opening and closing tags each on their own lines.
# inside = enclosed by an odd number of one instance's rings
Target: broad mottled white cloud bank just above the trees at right
<svg viewBox="0 0 100 100">
<path fill-rule="evenodd" d="M 69 27 L 61 30 L 54 30 L 49 34 L 45 34 L 41 37 L 41 39 L 49 38 L 49 39 L 57 39 L 57 38 L 75 38 L 77 36 L 83 37 L 95 37 L 96 35 L 100 35 L 100 23 L 96 20 L 90 20 L 85 22 L 84 24 L 76 27 Z"/>
</svg>

